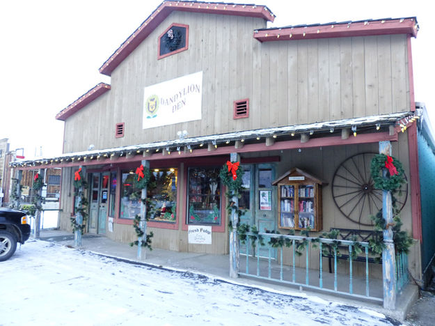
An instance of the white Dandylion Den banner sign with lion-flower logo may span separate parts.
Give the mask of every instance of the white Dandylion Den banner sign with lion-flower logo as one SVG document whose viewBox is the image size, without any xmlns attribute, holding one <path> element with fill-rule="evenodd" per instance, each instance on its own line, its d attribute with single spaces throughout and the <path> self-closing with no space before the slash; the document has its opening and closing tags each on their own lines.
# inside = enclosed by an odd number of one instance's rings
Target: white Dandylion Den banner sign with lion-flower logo
<svg viewBox="0 0 435 326">
<path fill-rule="evenodd" d="M 203 72 L 145 87 L 143 129 L 201 119 Z"/>
</svg>

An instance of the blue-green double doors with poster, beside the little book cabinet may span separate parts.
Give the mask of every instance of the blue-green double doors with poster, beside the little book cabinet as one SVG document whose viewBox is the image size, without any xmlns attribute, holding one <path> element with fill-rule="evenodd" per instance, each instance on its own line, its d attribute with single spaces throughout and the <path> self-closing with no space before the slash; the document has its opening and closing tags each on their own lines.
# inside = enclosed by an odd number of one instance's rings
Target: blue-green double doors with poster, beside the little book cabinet
<svg viewBox="0 0 435 326">
<path fill-rule="evenodd" d="M 275 178 L 274 164 L 246 164 L 242 166 L 243 187 L 239 199 L 239 208 L 245 210 L 240 223 L 255 226 L 258 231 L 276 230 L 276 192 L 272 186 Z M 269 240 L 267 240 L 269 241 Z M 240 254 L 246 254 L 246 245 L 249 245 L 248 254 L 257 256 L 258 248 L 251 246 L 251 242 L 240 244 Z M 269 249 L 260 247 L 260 257 L 269 257 Z M 271 249 L 271 258 L 276 258 L 276 249 Z"/>
</svg>

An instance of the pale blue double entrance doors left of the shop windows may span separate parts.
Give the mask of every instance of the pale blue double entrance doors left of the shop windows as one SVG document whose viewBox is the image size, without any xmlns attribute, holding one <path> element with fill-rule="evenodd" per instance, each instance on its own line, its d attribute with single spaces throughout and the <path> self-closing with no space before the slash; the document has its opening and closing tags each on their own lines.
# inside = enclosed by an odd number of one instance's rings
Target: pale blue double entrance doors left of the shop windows
<svg viewBox="0 0 435 326">
<path fill-rule="evenodd" d="M 110 173 L 91 173 L 89 233 L 105 234 Z"/>
</svg>

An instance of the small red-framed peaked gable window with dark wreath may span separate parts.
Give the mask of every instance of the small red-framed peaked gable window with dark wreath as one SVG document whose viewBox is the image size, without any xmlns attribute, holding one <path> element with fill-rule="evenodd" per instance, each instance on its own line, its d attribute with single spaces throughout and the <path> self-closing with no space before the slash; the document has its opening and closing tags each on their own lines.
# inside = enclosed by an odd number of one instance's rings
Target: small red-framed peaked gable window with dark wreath
<svg viewBox="0 0 435 326">
<path fill-rule="evenodd" d="M 159 36 L 158 59 L 171 56 L 189 47 L 189 25 L 172 24 Z"/>
</svg>

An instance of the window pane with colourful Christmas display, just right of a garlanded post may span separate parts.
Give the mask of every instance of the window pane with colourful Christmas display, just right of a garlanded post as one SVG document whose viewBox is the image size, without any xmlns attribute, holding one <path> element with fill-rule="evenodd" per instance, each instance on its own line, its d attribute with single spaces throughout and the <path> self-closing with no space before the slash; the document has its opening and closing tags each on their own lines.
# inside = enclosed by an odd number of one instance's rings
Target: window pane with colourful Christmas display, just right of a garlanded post
<svg viewBox="0 0 435 326">
<path fill-rule="evenodd" d="M 177 169 L 151 169 L 147 199 L 150 221 L 175 223 Z"/>
</svg>

